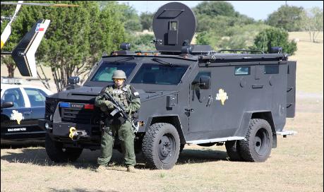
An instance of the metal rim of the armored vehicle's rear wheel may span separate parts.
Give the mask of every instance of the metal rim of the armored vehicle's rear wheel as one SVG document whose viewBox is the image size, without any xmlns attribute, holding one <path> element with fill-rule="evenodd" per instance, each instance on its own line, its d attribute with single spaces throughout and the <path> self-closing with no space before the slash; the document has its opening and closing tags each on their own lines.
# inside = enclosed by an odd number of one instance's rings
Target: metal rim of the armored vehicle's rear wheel
<svg viewBox="0 0 324 192">
<path fill-rule="evenodd" d="M 260 128 L 254 138 L 254 150 L 260 156 L 267 155 L 270 146 L 269 133 L 265 128 Z"/>
</svg>

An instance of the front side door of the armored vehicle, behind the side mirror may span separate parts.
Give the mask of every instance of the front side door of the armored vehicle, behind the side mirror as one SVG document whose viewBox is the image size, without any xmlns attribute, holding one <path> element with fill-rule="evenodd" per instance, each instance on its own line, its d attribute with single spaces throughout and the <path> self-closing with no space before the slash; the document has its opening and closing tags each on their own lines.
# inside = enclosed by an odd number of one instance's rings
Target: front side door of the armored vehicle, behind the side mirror
<svg viewBox="0 0 324 192">
<path fill-rule="evenodd" d="M 198 139 L 202 131 L 210 131 L 212 127 L 210 121 L 212 117 L 210 78 L 209 71 L 200 71 L 191 80 L 189 108 L 186 109 L 186 114 L 189 117 L 189 132 L 191 132 L 192 139 Z"/>
</svg>

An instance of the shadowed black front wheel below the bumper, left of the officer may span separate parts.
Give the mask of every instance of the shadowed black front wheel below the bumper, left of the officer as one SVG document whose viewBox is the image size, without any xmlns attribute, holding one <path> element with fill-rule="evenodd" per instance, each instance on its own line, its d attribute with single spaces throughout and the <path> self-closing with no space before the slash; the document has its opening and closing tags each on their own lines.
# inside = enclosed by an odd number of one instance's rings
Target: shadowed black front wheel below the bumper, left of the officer
<svg viewBox="0 0 324 192">
<path fill-rule="evenodd" d="M 48 134 L 45 136 L 45 148 L 49 159 L 54 162 L 74 162 L 83 150 L 82 148 L 62 148 L 61 143 L 52 140 Z"/>
</svg>

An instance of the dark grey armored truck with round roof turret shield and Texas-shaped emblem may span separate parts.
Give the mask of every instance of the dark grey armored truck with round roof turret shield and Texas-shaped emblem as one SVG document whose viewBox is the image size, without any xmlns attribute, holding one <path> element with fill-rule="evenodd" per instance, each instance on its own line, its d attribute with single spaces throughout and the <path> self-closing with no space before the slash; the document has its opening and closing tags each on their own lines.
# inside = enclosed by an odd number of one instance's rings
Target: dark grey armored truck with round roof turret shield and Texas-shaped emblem
<svg viewBox="0 0 324 192">
<path fill-rule="evenodd" d="M 94 100 L 123 70 L 140 94 L 135 145 L 150 167 L 171 169 L 185 144 L 225 144 L 230 160 L 267 160 L 286 118 L 294 117 L 296 62 L 280 47 L 264 54 L 190 44 L 196 18 L 181 3 L 162 6 L 153 30 L 157 51 L 121 44 L 102 56 L 82 87 L 47 97 L 40 124 L 50 159 L 73 161 L 83 148 L 100 149 L 104 115 Z"/>
</svg>

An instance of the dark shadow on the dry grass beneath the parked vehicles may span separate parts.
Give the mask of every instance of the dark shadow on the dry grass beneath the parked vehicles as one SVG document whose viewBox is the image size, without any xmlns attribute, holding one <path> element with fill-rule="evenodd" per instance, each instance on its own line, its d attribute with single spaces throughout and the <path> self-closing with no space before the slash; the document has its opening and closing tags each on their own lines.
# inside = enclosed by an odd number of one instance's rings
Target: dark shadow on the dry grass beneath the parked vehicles
<svg viewBox="0 0 324 192">
<path fill-rule="evenodd" d="M 2 147 L 1 147 L 2 149 Z M 76 167 L 77 169 L 90 169 L 95 171 L 97 167 L 97 157 L 100 156 L 100 150 L 90 151 L 83 150 L 82 154 L 76 162 L 56 163 L 52 162 L 47 156 L 46 150 L 40 148 L 21 148 L 18 151 L 5 150 L 1 155 L 1 160 L 11 163 L 37 164 L 40 166 L 61 166 Z M 204 162 L 217 162 L 219 160 L 227 160 L 227 153 L 217 150 L 183 150 L 176 164 L 198 164 Z M 143 153 L 136 154 L 136 168 L 149 169 L 145 164 Z M 124 166 L 124 155 L 118 150 L 113 150 L 110 166 Z"/>
</svg>

